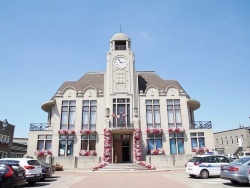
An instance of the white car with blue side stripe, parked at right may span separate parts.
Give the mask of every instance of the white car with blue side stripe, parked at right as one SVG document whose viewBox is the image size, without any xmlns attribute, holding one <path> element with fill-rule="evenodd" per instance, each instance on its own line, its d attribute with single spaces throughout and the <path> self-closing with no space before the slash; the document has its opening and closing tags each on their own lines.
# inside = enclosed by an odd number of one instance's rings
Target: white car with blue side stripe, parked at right
<svg viewBox="0 0 250 188">
<path fill-rule="evenodd" d="M 221 155 L 197 155 L 186 164 L 186 173 L 190 177 L 206 179 L 210 176 L 220 176 L 222 164 L 228 164 L 232 160 Z"/>
</svg>

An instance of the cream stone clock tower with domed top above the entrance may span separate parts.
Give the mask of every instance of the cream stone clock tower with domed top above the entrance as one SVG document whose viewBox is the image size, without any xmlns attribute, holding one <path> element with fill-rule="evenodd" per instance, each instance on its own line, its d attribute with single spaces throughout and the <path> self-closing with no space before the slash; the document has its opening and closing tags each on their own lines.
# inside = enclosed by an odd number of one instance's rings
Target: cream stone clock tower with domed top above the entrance
<svg viewBox="0 0 250 188">
<path fill-rule="evenodd" d="M 105 108 L 109 108 L 111 114 L 126 114 L 126 124 L 132 119 L 132 109 L 137 108 L 137 83 L 131 40 L 124 33 L 117 33 L 111 38 L 107 53 Z"/>
</svg>

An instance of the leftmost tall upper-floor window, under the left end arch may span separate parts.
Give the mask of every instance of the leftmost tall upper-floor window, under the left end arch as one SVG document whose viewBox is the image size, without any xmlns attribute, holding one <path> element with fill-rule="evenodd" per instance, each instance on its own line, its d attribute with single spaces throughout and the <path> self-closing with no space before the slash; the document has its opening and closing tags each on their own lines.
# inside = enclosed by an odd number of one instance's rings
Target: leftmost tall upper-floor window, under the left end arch
<svg viewBox="0 0 250 188">
<path fill-rule="evenodd" d="M 61 129 L 74 130 L 76 101 L 62 101 Z"/>
</svg>

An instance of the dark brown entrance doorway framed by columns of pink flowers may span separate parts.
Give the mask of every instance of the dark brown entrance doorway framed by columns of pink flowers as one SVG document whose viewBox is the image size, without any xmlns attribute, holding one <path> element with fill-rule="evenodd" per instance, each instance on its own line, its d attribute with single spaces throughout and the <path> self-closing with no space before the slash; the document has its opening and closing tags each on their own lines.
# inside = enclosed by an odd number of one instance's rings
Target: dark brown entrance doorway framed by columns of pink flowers
<svg viewBox="0 0 250 188">
<path fill-rule="evenodd" d="M 115 134 L 114 141 L 114 156 L 113 163 L 126 163 L 130 160 L 130 135 L 129 134 Z"/>
</svg>

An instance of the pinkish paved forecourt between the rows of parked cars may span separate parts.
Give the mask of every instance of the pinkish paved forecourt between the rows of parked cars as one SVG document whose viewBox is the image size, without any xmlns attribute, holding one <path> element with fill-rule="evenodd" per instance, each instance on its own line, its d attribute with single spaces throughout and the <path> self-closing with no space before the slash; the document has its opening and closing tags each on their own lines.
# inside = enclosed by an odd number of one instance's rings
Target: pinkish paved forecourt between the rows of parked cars
<svg viewBox="0 0 250 188">
<path fill-rule="evenodd" d="M 53 178 L 35 185 L 24 186 L 41 188 L 232 188 L 249 187 L 246 184 L 234 185 L 220 178 L 190 178 L 185 170 L 147 172 L 56 172 Z"/>
</svg>

